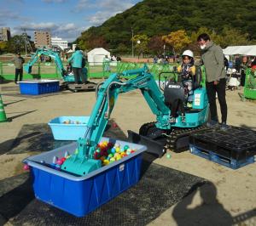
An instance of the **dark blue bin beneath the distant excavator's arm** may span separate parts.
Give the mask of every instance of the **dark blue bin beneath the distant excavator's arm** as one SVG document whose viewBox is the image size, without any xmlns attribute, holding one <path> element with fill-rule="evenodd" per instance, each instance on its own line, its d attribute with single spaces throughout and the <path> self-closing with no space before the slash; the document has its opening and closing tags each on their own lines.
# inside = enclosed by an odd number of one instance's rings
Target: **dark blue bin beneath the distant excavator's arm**
<svg viewBox="0 0 256 226">
<path fill-rule="evenodd" d="M 19 82 L 20 93 L 29 95 L 39 95 L 44 93 L 55 93 L 60 89 L 59 80 L 29 80 Z"/>
</svg>

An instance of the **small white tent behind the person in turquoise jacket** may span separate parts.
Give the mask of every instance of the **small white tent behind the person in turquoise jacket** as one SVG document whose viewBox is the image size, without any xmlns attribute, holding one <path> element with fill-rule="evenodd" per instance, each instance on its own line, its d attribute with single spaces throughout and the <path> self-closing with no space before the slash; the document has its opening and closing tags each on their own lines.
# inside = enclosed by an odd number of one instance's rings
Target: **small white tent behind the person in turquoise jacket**
<svg viewBox="0 0 256 226">
<path fill-rule="evenodd" d="M 88 52 L 89 65 L 102 65 L 105 55 L 110 59 L 110 53 L 105 48 L 94 48 Z"/>
</svg>

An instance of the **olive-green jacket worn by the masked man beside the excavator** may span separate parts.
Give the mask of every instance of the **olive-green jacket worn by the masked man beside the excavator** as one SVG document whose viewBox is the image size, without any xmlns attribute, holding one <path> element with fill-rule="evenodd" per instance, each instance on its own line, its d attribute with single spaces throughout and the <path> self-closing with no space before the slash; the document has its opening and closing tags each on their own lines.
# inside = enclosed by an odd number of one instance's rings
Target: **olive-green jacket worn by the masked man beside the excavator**
<svg viewBox="0 0 256 226">
<path fill-rule="evenodd" d="M 201 56 L 206 67 L 207 82 L 219 81 L 226 76 L 224 70 L 224 54 L 222 48 L 209 42 Z"/>
</svg>

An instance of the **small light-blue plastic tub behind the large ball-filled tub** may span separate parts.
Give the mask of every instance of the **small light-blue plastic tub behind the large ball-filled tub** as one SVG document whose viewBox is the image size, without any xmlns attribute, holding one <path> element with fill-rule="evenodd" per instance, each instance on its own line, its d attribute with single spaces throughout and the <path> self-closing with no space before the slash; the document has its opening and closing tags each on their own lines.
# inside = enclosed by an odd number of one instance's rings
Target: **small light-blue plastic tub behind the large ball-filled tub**
<svg viewBox="0 0 256 226">
<path fill-rule="evenodd" d="M 49 121 L 48 125 L 56 140 L 77 140 L 84 138 L 89 119 L 90 116 L 60 116 Z M 65 121 L 69 123 L 65 124 Z"/>
</svg>

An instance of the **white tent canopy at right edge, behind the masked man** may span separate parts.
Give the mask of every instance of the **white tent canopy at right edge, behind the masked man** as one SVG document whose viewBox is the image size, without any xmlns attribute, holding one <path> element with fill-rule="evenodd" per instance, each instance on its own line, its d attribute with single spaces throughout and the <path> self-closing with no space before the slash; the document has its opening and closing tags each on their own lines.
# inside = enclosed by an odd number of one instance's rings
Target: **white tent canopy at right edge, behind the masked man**
<svg viewBox="0 0 256 226">
<path fill-rule="evenodd" d="M 253 46 L 229 46 L 224 48 L 224 55 L 256 56 L 256 45 Z"/>
</svg>

